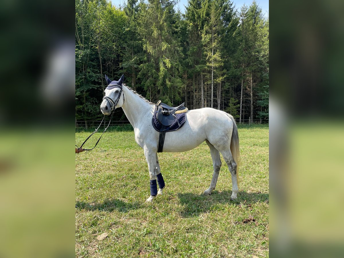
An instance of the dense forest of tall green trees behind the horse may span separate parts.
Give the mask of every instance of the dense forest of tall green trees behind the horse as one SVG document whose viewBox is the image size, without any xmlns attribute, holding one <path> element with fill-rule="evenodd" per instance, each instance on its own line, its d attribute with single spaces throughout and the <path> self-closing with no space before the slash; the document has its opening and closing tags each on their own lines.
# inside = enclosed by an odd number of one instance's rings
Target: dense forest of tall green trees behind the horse
<svg viewBox="0 0 344 258">
<path fill-rule="evenodd" d="M 269 18 L 253 1 L 76 0 L 77 121 L 103 116 L 105 75 L 153 103 L 224 110 L 241 122 L 269 119 Z M 116 110 L 117 120 L 127 120 Z"/>
</svg>

